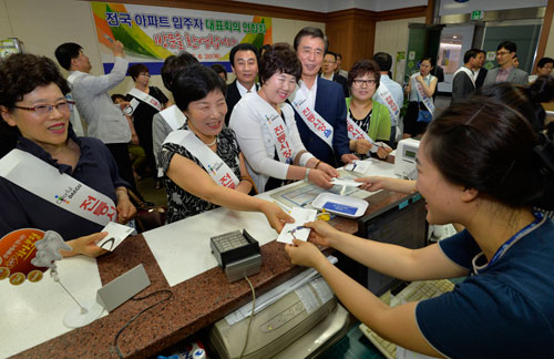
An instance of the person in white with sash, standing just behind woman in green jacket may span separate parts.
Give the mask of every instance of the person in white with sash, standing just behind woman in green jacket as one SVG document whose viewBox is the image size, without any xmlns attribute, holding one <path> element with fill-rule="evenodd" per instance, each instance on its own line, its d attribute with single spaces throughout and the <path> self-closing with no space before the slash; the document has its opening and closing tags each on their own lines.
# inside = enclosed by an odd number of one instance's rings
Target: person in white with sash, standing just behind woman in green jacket
<svg viewBox="0 0 554 359">
<path fill-rule="evenodd" d="M 381 79 L 379 88 L 373 94 L 373 100 L 387 106 L 390 113 L 390 146 L 393 147 L 397 137 L 397 125 L 400 120 L 400 109 L 404 103 L 404 92 L 402 86 L 389 76 L 392 66 L 392 57 L 387 52 L 377 52 L 373 54 L 375 62 L 379 65 Z M 383 91 L 384 90 L 384 91 Z"/>
</svg>

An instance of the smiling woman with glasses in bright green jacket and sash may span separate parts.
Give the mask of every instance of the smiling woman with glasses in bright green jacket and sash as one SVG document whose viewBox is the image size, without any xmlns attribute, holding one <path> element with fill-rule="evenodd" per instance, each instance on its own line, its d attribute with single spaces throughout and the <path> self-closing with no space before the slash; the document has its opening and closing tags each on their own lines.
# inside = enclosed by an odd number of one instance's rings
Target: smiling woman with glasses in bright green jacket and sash
<svg viewBox="0 0 554 359">
<path fill-rule="evenodd" d="M 347 99 L 347 130 L 350 151 L 359 155 L 370 152 L 384 158 L 391 148 L 376 142 L 390 140 L 390 113 L 387 106 L 372 100 L 380 76 L 373 60 L 360 60 L 348 72 L 351 99 Z"/>
</svg>

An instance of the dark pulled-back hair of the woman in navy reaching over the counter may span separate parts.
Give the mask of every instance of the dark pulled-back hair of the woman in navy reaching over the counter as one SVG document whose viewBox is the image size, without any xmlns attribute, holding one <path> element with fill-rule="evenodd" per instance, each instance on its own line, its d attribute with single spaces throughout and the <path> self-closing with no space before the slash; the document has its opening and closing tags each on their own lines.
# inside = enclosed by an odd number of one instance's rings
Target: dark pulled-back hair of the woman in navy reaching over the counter
<svg viewBox="0 0 554 359">
<path fill-rule="evenodd" d="M 519 111 L 494 99 L 455 102 L 429 124 L 424 139 L 431 162 L 450 183 L 514 208 L 537 204 L 546 192 L 537 134 Z"/>
</svg>

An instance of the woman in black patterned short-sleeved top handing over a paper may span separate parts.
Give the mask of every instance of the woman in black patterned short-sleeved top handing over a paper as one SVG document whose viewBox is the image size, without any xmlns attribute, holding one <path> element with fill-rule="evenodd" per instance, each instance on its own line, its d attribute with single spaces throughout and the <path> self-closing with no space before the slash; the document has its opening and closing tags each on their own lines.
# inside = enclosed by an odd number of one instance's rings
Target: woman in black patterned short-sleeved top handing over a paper
<svg viewBox="0 0 554 359">
<path fill-rule="evenodd" d="M 261 212 L 280 232 L 293 218 L 276 204 L 248 196 L 254 182 L 235 133 L 223 129 L 227 105 L 222 78 L 212 69 L 191 64 L 174 79 L 172 92 L 187 122 L 167 136 L 158 153 L 160 167 L 171 180 L 167 222 L 224 206 Z"/>
</svg>

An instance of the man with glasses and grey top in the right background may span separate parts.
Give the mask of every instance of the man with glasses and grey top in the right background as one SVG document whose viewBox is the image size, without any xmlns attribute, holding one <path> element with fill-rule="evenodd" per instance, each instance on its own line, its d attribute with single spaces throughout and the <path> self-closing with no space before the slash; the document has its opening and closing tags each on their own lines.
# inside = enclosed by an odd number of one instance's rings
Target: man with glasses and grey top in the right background
<svg viewBox="0 0 554 359">
<path fill-rule="evenodd" d="M 517 48 L 512 41 L 504 41 L 499 44 L 496 48 L 496 63 L 500 68 L 492 69 L 486 73 L 483 86 L 496 82 L 527 84 L 529 73 L 513 65 L 516 51 Z"/>
</svg>

